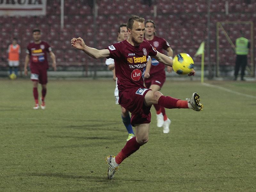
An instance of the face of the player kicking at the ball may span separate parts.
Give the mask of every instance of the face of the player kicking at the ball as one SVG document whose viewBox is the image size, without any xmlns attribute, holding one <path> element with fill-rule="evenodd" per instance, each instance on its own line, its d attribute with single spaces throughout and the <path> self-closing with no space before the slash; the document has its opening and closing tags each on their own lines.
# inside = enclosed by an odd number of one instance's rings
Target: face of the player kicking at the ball
<svg viewBox="0 0 256 192">
<path fill-rule="evenodd" d="M 145 33 L 145 24 L 138 21 L 134 21 L 132 29 L 129 30 L 129 35 L 131 35 L 133 41 L 140 44 L 143 42 L 143 36 Z"/>
</svg>

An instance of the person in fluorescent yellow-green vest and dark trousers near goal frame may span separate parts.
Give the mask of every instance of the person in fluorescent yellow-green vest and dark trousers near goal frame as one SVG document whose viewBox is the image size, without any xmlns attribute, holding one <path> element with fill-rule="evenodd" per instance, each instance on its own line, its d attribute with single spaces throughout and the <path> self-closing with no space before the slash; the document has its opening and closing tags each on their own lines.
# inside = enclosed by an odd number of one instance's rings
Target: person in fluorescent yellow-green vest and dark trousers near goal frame
<svg viewBox="0 0 256 192">
<path fill-rule="evenodd" d="M 241 33 L 241 37 L 236 39 L 236 65 L 235 65 L 235 78 L 236 81 L 237 75 L 241 66 L 241 81 L 244 81 L 244 71 L 247 65 L 247 55 L 249 53 L 250 43 L 249 40 L 243 37 Z"/>
</svg>

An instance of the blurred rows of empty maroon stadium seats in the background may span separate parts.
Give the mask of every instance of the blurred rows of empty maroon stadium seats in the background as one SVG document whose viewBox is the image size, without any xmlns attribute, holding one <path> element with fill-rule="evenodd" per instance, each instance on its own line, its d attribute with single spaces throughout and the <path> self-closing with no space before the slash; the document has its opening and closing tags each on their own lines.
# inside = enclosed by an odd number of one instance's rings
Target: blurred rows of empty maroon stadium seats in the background
<svg viewBox="0 0 256 192">
<path fill-rule="evenodd" d="M 0 16 L 0 51 L 6 52 L 10 40 L 17 37 L 21 45 L 21 57 L 25 56 L 27 44 L 32 40 L 33 28 L 42 30 L 42 39 L 48 41 L 57 62 L 90 62 L 88 56 L 77 57 L 70 46 L 73 36 L 84 37 L 89 46 L 100 49 L 116 42 L 118 26 L 126 22 L 131 14 L 143 16 L 146 20 L 156 22 L 156 33 L 164 37 L 175 53 L 189 52 L 195 54 L 198 46 L 207 37 L 207 2 L 204 0 L 158 0 L 157 15 L 153 17 L 153 6 L 143 4 L 140 0 L 101 0 L 98 1 L 98 17 L 96 25 L 93 23 L 93 9 L 86 0 L 65 0 L 64 2 L 64 29 L 60 29 L 60 1 L 47 1 L 46 16 Z M 225 1 L 212 1 L 211 31 L 210 31 L 210 58 L 216 60 L 216 22 L 218 21 L 256 21 L 256 2 L 251 4 L 240 0 L 229 0 L 229 14 L 225 14 Z M 224 28 L 234 42 L 240 35 L 240 29 L 245 36 L 250 37 L 249 25 L 234 24 Z M 256 27 L 254 27 L 256 38 Z M 94 38 L 94 34 L 96 34 Z M 220 48 L 228 56 L 226 63 L 233 65 L 234 52 L 223 33 L 220 33 Z M 256 45 L 255 45 L 256 46 Z M 22 58 L 23 59 L 23 58 Z M 6 62 L 6 54 L 1 54 L 1 61 Z M 24 60 L 24 59 L 23 59 Z M 197 60 L 197 59 L 196 59 Z M 256 60 L 256 57 L 255 59 Z M 224 62 L 224 60 L 222 60 Z M 224 63 L 225 63 L 224 62 Z"/>
</svg>

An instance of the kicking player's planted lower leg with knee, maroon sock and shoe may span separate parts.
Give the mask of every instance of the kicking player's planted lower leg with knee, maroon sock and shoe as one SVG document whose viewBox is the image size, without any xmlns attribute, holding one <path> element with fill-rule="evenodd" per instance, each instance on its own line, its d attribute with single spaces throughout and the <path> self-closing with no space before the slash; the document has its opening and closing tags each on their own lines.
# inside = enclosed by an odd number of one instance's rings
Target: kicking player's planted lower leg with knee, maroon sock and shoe
<svg viewBox="0 0 256 192">
<path fill-rule="evenodd" d="M 106 163 L 108 164 L 108 179 L 113 179 L 114 174 L 119 170 L 125 158 L 136 152 L 140 146 L 148 142 L 149 124 L 139 124 L 135 127 L 136 137 L 128 140 L 124 148 L 117 154 L 117 156 L 107 156 Z"/>
</svg>

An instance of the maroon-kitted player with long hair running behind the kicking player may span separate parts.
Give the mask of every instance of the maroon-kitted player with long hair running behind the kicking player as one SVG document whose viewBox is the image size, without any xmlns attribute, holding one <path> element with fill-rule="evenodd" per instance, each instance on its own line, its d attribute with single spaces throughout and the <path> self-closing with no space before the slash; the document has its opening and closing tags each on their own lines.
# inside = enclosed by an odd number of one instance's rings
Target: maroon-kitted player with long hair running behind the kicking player
<svg viewBox="0 0 256 192">
<path fill-rule="evenodd" d="M 164 53 L 164 50 L 167 51 L 167 55 L 172 59 L 173 52 L 169 43 L 161 37 L 155 36 L 156 26 L 154 21 L 147 20 L 145 22 L 145 39 L 160 53 Z M 158 62 L 156 59 L 152 58 L 151 65 L 147 65 L 144 82 L 147 88 L 152 89 L 153 91 L 159 91 L 165 82 L 165 65 L 162 62 Z M 171 72 L 172 68 L 167 66 L 167 71 Z M 158 127 L 164 127 L 163 132 L 169 133 L 169 126 L 171 120 L 167 118 L 165 114 L 164 107 L 154 104 L 156 109 L 156 121 Z"/>
</svg>

